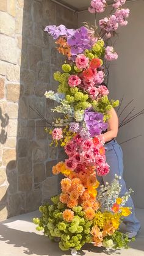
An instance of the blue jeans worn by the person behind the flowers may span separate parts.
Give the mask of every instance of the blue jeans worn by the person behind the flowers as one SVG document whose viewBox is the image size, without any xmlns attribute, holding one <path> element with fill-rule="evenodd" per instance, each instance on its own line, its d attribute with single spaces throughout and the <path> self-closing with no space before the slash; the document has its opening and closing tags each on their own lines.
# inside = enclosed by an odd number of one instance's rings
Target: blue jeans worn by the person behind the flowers
<svg viewBox="0 0 144 256">
<path fill-rule="evenodd" d="M 106 161 L 107 164 L 110 166 L 110 172 L 106 176 L 103 177 L 97 177 L 98 181 L 100 182 L 100 185 L 104 185 L 106 182 L 109 182 L 109 184 L 112 182 L 112 180 L 115 178 L 115 174 L 118 176 L 121 176 L 120 184 L 121 192 L 120 197 L 124 196 L 124 194 L 128 191 L 126 188 L 126 183 L 123 180 L 123 152 L 120 147 L 120 145 L 117 143 L 115 139 L 113 139 L 110 142 L 107 142 L 107 144 L 104 145 L 106 149 Z M 131 231 L 138 231 L 140 229 L 140 222 L 135 217 L 135 211 L 134 211 L 134 203 L 132 202 L 132 198 L 129 197 L 128 201 L 126 202 L 126 207 L 132 207 L 132 213 L 128 217 L 124 217 L 124 224 L 126 224 L 126 230 L 128 232 Z"/>
</svg>

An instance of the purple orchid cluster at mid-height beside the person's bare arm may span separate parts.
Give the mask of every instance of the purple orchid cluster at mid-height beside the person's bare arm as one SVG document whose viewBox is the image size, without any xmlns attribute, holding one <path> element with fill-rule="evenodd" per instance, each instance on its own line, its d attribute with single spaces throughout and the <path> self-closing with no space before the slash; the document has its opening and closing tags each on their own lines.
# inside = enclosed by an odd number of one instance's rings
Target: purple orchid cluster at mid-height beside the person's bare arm
<svg viewBox="0 0 144 256">
<path fill-rule="evenodd" d="M 92 108 L 86 109 L 84 121 L 91 137 L 100 135 L 102 131 L 107 129 L 108 125 L 107 123 L 104 123 L 103 117 L 103 114 L 93 111 Z"/>
</svg>

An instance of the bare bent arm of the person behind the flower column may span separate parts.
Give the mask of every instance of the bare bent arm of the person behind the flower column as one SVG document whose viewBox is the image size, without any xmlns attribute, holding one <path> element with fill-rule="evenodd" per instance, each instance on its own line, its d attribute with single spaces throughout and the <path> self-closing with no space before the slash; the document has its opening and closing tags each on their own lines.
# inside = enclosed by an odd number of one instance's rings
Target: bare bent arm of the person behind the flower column
<svg viewBox="0 0 144 256">
<path fill-rule="evenodd" d="M 115 109 L 111 109 L 107 114 L 110 114 L 110 119 L 107 120 L 108 128 L 107 132 L 103 134 L 104 142 L 111 141 L 113 138 L 117 137 L 118 134 L 118 116 Z"/>
</svg>

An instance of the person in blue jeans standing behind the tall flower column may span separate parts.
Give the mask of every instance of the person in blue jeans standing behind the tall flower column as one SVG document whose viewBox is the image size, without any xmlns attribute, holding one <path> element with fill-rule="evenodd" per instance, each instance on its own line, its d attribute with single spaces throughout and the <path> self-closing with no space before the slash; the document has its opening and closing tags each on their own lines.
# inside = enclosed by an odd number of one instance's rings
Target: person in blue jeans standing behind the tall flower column
<svg viewBox="0 0 144 256">
<path fill-rule="evenodd" d="M 128 191 L 126 188 L 126 183 L 123 179 L 123 152 L 120 145 L 117 143 L 115 137 L 118 134 L 118 116 L 115 109 L 111 109 L 109 111 L 110 119 L 107 120 L 108 128 L 103 133 L 102 139 L 104 142 L 104 147 L 106 149 L 106 161 L 107 164 L 110 166 L 110 172 L 106 176 L 98 176 L 98 181 L 101 185 L 105 185 L 106 182 L 111 183 L 112 180 L 115 178 L 115 174 L 121 176 L 120 184 L 121 192 L 120 197 L 124 196 L 124 194 Z M 126 235 L 129 238 L 136 236 L 140 230 L 140 222 L 135 217 L 134 211 L 134 203 L 132 202 L 132 198 L 129 197 L 128 202 L 126 203 L 127 207 L 132 207 L 132 213 L 125 217 L 123 222 L 126 224 Z"/>
</svg>

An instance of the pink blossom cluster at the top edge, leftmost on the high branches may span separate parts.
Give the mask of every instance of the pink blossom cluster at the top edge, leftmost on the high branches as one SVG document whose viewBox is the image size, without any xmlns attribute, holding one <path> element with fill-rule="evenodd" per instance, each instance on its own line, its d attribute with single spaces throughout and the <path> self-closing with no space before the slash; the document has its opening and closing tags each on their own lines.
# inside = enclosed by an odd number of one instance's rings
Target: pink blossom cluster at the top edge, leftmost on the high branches
<svg viewBox="0 0 144 256">
<path fill-rule="evenodd" d="M 91 7 L 88 8 L 88 11 L 90 13 L 104 12 L 104 9 L 106 7 L 106 1 L 105 0 L 92 0 L 90 5 L 91 5 Z"/>
</svg>

